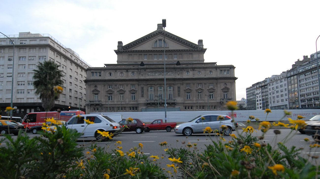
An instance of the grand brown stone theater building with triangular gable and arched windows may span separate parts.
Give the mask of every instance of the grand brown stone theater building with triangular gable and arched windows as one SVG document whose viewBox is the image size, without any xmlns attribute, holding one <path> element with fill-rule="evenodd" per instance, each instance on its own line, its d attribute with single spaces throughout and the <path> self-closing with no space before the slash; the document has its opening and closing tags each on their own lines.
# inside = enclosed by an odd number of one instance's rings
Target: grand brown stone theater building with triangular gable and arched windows
<svg viewBox="0 0 320 179">
<path fill-rule="evenodd" d="M 129 44 L 118 41 L 117 64 L 87 68 L 86 112 L 164 111 L 164 90 L 167 111 L 225 110 L 236 100 L 235 67 L 205 63 L 205 51 L 203 40 L 192 43 L 162 24 Z"/>
</svg>

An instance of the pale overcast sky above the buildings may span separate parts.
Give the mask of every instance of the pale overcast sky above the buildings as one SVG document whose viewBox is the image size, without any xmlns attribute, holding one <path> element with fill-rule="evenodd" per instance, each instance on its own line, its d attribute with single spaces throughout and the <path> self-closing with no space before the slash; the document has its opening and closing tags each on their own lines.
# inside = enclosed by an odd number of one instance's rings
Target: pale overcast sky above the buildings
<svg viewBox="0 0 320 179">
<path fill-rule="evenodd" d="M 320 1 L 35 1 L 0 0 L 0 32 L 49 33 L 93 67 L 116 63 L 117 42 L 156 30 L 193 43 L 205 62 L 236 67 L 236 98 L 245 89 L 316 52 Z M 320 40 L 319 40 L 320 41 Z M 320 42 L 318 42 L 320 49 Z"/>
</svg>

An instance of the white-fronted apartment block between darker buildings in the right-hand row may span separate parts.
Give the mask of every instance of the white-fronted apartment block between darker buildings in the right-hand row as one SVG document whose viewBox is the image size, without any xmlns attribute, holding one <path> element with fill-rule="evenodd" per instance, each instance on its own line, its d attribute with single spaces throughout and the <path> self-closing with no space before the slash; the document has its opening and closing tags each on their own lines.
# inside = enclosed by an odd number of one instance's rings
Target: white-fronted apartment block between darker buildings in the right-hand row
<svg viewBox="0 0 320 179">
<path fill-rule="evenodd" d="M 270 109 L 288 109 L 287 72 L 272 75 L 268 83 L 268 89 Z"/>
</svg>

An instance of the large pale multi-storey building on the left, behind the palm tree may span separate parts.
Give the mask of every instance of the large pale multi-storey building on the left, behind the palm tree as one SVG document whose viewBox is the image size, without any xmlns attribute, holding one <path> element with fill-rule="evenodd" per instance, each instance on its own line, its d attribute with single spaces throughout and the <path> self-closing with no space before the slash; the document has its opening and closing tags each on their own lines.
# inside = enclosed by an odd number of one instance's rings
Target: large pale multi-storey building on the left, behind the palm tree
<svg viewBox="0 0 320 179">
<path fill-rule="evenodd" d="M 70 48 L 62 45 L 49 34 L 20 32 L 19 35 L 0 36 L 0 107 L 4 111 L 10 106 L 13 75 L 13 106 L 17 106 L 14 116 L 23 117 L 29 112 L 40 109 L 41 100 L 35 95 L 33 86 L 34 69 L 39 62 L 54 61 L 63 71 L 64 91 L 56 100 L 55 109 L 85 110 L 86 69 L 91 67 Z M 14 56 L 14 58 L 13 58 Z M 14 60 L 13 60 L 14 59 Z M 14 63 L 14 65 L 13 65 Z M 13 74 L 12 74 L 12 68 Z"/>
</svg>

